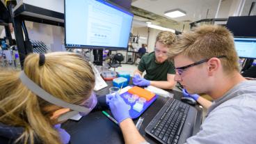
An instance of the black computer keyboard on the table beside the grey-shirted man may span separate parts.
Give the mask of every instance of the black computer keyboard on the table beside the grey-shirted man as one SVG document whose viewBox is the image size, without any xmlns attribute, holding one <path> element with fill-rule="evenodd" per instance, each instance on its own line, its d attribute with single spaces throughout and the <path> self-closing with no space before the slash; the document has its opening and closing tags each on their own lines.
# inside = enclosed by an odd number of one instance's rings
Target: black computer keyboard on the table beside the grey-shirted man
<svg viewBox="0 0 256 144">
<path fill-rule="evenodd" d="M 196 113 L 189 104 L 169 99 L 145 131 L 161 143 L 185 143 L 193 134 Z"/>
</svg>

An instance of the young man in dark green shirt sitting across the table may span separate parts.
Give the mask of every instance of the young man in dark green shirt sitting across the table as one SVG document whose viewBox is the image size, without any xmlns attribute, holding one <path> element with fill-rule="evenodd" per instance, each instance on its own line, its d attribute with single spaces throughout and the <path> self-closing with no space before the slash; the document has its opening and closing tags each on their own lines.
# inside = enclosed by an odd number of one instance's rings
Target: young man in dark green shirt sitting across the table
<svg viewBox="0 0 256 144">
<path fill-rule="evenodd" d="M 167 51 L 175 41 L 176 35 L 170 31 L 161 31 L 157 35 L 154 51 L 141 58 L 138 69 L 134 72 L 134 85 L 173 89 L 176 85 L 175 67 L 168 61 Z M 144 71 L 146 74 L 143 78 Z"/>
</svg>

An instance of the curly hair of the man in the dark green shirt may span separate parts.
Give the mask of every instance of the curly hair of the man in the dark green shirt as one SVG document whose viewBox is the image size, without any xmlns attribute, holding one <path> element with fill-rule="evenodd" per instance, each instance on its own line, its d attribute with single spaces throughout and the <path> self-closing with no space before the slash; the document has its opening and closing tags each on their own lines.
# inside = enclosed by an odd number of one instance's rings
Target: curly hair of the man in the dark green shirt
<svg viewBox="0 0 256 144">
<path fill-rule="evenodd" d="M 156 42 L 160 42 L 161 44 L 170 48 L 176 42 L 176 35 L 170 31 L 161 31 L 157 35 Z"/>
</svg>

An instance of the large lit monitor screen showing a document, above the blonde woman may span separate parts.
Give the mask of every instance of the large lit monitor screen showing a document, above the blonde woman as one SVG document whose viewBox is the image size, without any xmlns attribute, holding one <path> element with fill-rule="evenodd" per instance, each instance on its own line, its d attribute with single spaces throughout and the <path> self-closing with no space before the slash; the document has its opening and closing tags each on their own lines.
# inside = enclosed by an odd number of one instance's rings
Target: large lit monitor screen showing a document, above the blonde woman
<svg viewBox="0 0 256 144">
<path fill-rule="evenodd" d="M 127 49 L 133 16 L 105 0 L 65 0 L 65 47 Z"/>
</svg>

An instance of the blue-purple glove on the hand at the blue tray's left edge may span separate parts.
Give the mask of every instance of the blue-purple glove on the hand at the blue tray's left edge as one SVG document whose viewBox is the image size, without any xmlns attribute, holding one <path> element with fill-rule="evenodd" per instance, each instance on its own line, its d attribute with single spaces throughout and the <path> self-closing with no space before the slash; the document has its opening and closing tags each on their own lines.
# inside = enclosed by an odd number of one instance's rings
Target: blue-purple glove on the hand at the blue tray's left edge
<svg viewBox="0 0 256 144">
<path fill-rule="evenodd" d="M 109 107 L 115 120 L 118 120 L 118 123 L 130 118 L 129 107 L 118 93 L 115 93 L 115 97 L 109 102 Z"/>
</svg>

